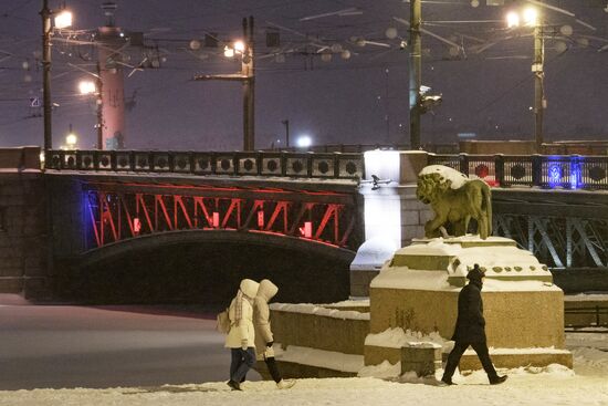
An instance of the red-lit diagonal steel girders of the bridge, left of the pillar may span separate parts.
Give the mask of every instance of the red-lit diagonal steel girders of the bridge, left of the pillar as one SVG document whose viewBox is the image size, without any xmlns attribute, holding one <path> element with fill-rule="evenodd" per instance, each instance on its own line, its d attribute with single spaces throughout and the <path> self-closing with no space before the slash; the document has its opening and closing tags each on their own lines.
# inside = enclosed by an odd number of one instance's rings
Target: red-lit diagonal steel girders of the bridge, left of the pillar
<svg viewBox="0 0 608 406">
<path fill-rule="evenodd" d="M 88 249 L 146 235 L 195 229 L 261 231 L 352 250 L 358 247 L 354 195 L 184 185 L 172 189 L 170 185 L 112 183 L 88 187 Z"/>
</svg>

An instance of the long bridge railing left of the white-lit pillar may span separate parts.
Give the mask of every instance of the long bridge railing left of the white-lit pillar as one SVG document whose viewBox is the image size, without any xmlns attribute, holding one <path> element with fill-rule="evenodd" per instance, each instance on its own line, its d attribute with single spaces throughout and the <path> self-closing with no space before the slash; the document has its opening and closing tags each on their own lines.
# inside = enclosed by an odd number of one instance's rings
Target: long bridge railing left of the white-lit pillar
<svg viewBox="0 0 608 406">
<path fill-rule="evenodd" d="M 360 179 L 361 154 L 283 152 L 50 150 L 45 168 L 117 173 Z"/>
</svg>

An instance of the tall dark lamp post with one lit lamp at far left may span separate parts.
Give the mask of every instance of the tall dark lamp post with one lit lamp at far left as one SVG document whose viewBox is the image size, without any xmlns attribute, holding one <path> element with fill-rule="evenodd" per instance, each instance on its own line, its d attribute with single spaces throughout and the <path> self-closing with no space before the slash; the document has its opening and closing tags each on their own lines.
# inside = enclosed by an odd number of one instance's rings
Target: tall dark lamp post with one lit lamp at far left
<svg viewBox="0 0 608 406">
<path fill-rule="evenodd" d="M 42 1 L 42 93 L 44 113 L 44 150 L 53 148 L 52 105 L 51 105 L 51 35 L 53 27 L 51 17 L 55 17 L 55 28 L 64 29 L 72 24 L 72 13 L 67 10 L 54 12 L 49 9 L 49 0 Z"/>
</svg>

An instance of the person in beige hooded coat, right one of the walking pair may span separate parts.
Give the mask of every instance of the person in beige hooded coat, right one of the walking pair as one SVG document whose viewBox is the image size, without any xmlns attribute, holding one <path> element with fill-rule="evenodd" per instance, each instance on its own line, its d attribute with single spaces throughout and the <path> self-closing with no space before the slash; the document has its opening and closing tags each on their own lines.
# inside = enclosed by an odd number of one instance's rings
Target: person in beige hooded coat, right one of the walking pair
<svg viewBox="0 0 608 406">
<path fill-rule="evenodd" d="M 280 389 L 287 389 L 295 384 L 294 379 L 283 379 L 274 360 L 274 337 L 270 327 L 270 300 L 279 292 L 279 288 L 268 279 L 260 282 L 258 295 L 253 300 L 253 325 L 255 327 L 255 353 L 258 360 L 264 361 L 270 375 Z"/>
</svg>

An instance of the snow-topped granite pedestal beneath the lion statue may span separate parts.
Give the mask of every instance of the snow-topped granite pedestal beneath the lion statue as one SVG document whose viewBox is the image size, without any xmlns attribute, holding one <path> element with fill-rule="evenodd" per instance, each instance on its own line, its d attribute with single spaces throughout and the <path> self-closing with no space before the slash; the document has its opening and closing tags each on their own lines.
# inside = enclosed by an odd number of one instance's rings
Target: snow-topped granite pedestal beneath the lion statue
<svg viewBox="0 0 608 406">
<path fill-rule="evenodd" d="M 474 263 L 486 274 L 482 298 L 494 364 L 572 367 L 572 354 L 564 350 L 564 293 L 545 266 L 507 238 L 420 239 L 399 249 L 371 281 L 370 333 L 401 327 L 449 340 L 458 294 Z M 365 363 L 396 363 L 396 350 L 366 341 Z M 474 355 L 462 358 L 461 368 L 479 367 Z"/>
</svg>

